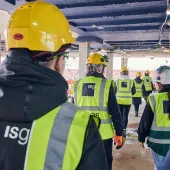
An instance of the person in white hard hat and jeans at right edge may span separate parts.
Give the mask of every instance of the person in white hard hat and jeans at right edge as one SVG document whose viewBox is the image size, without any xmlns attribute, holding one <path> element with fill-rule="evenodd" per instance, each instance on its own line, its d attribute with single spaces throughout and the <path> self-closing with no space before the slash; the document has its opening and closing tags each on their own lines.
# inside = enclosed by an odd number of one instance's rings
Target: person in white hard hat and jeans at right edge
<svg viewBox="0 0 170 170">
<path fill-rule="evenodd" d="M 152 150 L 155 170 L 161 170 L 170 147 L 170 67 L 157 69 L 156 89 L 159 93 L 148 97 L 138 128 L 138 140 Z M 167 169 L 168 170 L 168 169 Z"/>
</svg>

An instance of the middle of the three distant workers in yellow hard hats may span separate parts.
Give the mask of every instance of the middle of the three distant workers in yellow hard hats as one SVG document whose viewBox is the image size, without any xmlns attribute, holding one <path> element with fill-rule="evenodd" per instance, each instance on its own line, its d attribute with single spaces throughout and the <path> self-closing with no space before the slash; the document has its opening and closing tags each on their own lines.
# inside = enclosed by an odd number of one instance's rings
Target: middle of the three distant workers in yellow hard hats
<svg viewBox="0 0 170 170">
<path fill-rule="evenodd" d="M 137 72 L 136 73 L 136 78 L 134 79 L 136 93 L 132 96 L 132 103 L 134 105 L 135 116 L 136 117 L 138 117 L 139 106 L 142 103 L 142 92 L 144 90 L 144 84 L 143 84 L 143 81 L 142 81 L 141 77 L 142 77 L 142 73 Z"/>
</svg>

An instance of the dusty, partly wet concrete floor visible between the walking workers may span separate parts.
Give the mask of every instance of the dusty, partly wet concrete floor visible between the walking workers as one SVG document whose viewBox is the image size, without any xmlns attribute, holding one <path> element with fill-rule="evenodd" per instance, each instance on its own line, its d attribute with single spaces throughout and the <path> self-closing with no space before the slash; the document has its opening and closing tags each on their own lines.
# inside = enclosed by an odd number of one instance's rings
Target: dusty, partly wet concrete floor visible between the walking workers
<svg viewBox="0 0 170 170">
<path fill-rule="evenodd" d="M 113 146 L 113 170 L 153 170 L 151 152 L 139 146 L 135 132 L 144 107 L 145 102 L 140 107 L 139 117 L 135 117 L 133 105 L 131 107 L 126 143 L 120 150 Z"/>
</svg>

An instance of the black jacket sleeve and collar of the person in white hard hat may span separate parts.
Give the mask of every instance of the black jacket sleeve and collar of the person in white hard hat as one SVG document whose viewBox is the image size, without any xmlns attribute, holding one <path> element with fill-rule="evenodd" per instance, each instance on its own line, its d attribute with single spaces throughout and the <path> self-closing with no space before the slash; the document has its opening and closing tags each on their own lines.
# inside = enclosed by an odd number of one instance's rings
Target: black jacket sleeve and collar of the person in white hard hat
<svg viewBox="0 0 170 170">
<path fill-rule="evenodd" d="M 161 90 L 159 93 L 163 93 L 163 92 L 170 92 L 170 89 L 167 88 Z M 138 127 L 139 142 L 145 142 L 145 138 L 149 136 L 153 118 L 154 118 L 154 113 L 152 112 L 150 104 L 147 102 Z"/>
</svg>

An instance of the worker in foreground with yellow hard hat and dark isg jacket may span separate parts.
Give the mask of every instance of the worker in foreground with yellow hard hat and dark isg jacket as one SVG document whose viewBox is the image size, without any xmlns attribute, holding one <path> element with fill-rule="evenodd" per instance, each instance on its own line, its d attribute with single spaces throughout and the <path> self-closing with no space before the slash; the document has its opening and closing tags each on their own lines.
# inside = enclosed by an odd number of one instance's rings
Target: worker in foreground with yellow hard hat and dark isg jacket
<svg viewBox="0 0 170 170">
<path fill-rule="evenodd" d="M 0 66 L 1 170 L 108 170 L 100 120 L 67 102 L 62 73 L 74 42 L 55 5 L 34 1 L 12 14 Z"/>
</svg>

